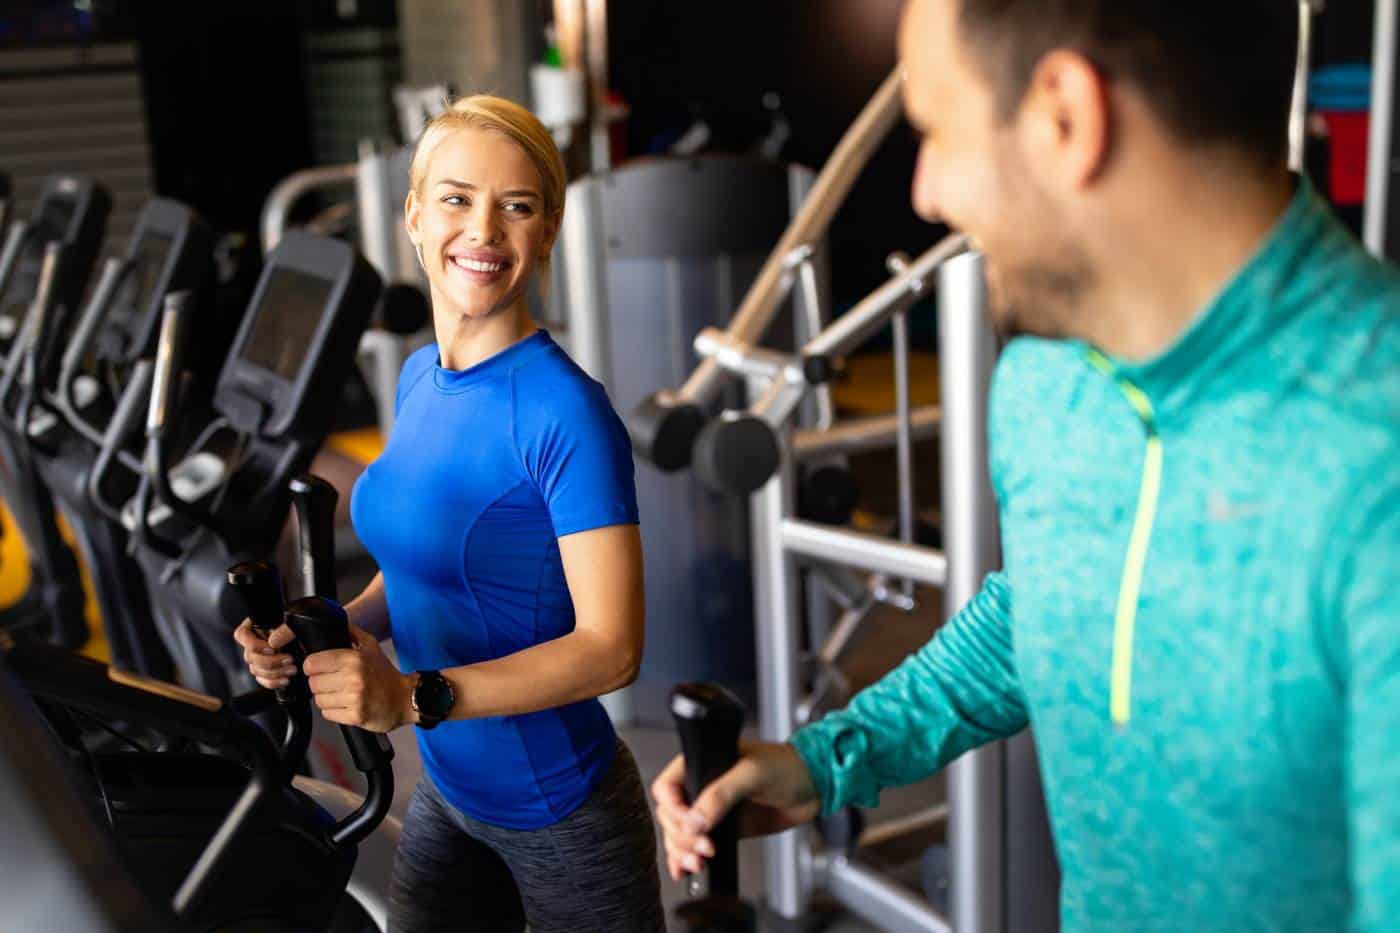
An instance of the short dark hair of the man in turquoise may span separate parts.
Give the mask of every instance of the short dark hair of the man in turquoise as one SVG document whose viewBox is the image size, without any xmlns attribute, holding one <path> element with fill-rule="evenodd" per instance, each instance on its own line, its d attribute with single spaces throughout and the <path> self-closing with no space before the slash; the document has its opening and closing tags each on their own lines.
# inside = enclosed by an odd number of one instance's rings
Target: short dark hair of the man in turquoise
<svg viewBox="0 0 1400 933">
<path fill-rule="evenodd" d="M 1004 118 L 1036 63 L 1082 53 L 1133 83 L 1184 144 L 1225 143 L 1263 164 L 1288 151 L 1298 57 L 1294 0 L 959 0 L 960 28 Z"/>
</svg>

